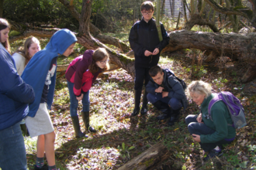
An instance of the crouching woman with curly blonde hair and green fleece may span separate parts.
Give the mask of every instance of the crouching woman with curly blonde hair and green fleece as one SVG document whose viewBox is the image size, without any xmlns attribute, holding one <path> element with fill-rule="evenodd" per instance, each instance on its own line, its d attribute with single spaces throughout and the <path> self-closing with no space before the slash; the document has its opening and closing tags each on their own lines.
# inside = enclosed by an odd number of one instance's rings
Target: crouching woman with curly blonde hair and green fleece
<svg viewBox="0 0 256 170">
<path fill-rule="evenodd" d="M 199 142 L 204 151 L 209 152 L 203 158 L 204 161 L 223 155 L 222 145 L 230 144 L 236 136 L 235 128 L 229 125 L 233 124 L 233 121 L 223 101 L 213 104 L 210 113 L 212 119 L 209 117 L 209 102 L 216 95 L 211 91 L 209 83 L 203 81 L 192 81 L 186 89 L 186 95 L 201 106 L 201 113 L 185 117 L 185 123 L 188 124 L 193 140 Z"/>
</svg>

